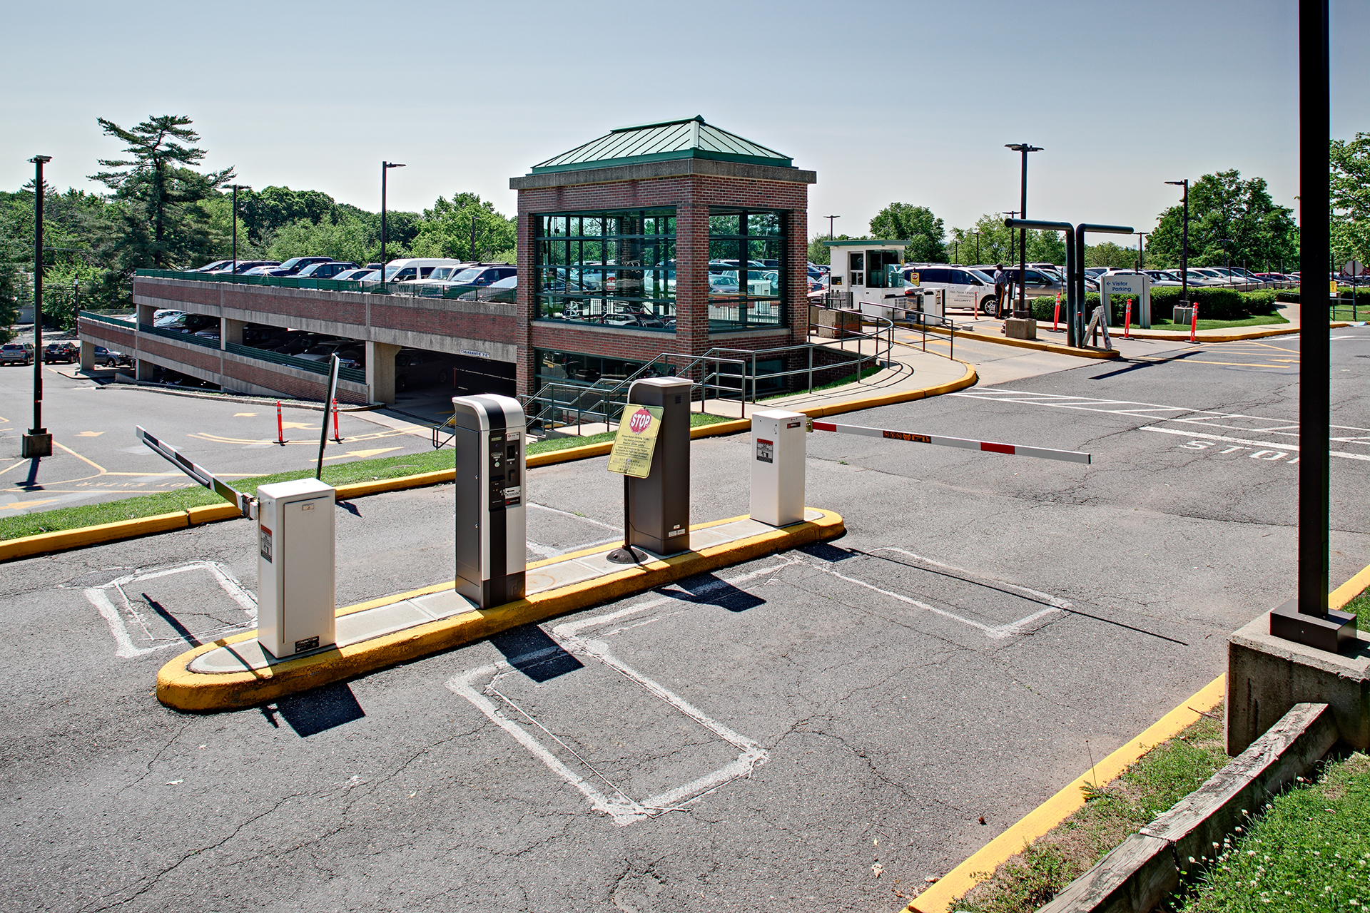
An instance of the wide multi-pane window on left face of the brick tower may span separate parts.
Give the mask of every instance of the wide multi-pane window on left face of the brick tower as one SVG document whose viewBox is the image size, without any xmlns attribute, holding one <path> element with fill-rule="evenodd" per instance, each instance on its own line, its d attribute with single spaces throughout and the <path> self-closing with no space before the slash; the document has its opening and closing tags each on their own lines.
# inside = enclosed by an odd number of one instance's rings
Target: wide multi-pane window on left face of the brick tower
<svg viewBox="0 0 1370 913">
<path fill-rule="evenodd" d="M 537 319 L 675 331 L 674 208 L 547 214 L 534 230 Z"/>
</svg>

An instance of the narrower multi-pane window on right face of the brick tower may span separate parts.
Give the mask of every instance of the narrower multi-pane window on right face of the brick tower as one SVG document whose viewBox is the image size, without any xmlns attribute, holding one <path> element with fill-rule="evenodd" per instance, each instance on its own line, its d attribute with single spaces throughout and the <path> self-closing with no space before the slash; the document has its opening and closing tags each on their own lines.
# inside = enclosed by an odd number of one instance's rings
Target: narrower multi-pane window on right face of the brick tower
<svg viewBox="0 0 1370 913">
<path fill-rule="evenodd" d="M 782 326 L 785 263 L 784 212 L 710 208 L 710 331 Z"/>
</svg>

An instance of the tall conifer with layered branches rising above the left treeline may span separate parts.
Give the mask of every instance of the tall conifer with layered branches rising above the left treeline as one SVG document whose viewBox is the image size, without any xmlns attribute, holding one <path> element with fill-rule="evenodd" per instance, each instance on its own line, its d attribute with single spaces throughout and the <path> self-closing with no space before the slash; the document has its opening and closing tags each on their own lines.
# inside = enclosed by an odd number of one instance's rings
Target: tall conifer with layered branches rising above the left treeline
<svg viewBox="0 0 1370 913">
<path fill-rule="evenodd" d="M 200 205 L 221 185 L 232 181 L 233 168 L 199 172 L 204 149 L 190 130 L 190 118 L 162 115 L 125 130 L 112 120 L 96 119 L 105 136 L 125 145 L 127 159 L 100 159 L 111 171 L 90 175 L 111 190 L 121 205 L 121 237 L 114 252 L 121 267 L 164 268 L 208 257 L 214 240 L 208 214 Z"/>
</svg>

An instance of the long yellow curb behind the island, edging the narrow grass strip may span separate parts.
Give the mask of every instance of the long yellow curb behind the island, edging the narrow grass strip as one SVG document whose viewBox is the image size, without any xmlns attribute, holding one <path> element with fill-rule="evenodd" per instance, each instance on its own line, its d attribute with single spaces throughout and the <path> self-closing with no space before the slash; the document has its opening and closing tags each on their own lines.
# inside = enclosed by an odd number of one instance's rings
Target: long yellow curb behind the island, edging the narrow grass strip
<svg viewBox="0 0 1370 913">
<path fill-rule="evenodd" d="M 960 361 L 960 359 L 955 360 Z M 821 419 L 823 416 L 840 415 L 855 409 L 873 409 L 875 407 L 892 405 L 895 402 L 910 402 L 912 400 L 941 396 L 943 393 L 952 393 L 955 390 L 974 386 L 980 379 L 975 375 L 975 370 L 964 361 L 960 363 L 966 365 L 966 374 L 959 381 L 938 383 L 919 390 L 904 390 L 901 393 L 863 397 L 834 405 L 811 407 L 808 409 L 799 411 L 811 419 Z M 727 422 L 715 422 L 714 424 L 701 424 L 696 428 L 690 428 L 689 435 L 690 439 L 711 438 L 721 434 L 737 434 L 738 431 L 747 431 L 751 427 L 751 419 L 732 419 Z M 527 457 L 527 468 L 536 470 L 541 465 L 555 465 L 558 463 L 570 463 L 571 460 L 589 460 L 592 457 L 607 456 L 612 446 L 614 445 L 611 442 L 606 441 L 604 443 L 586 443 L 578 448 L 552 450 L 551 453 L 534 453 Z M 456 470 L 438 470 L 436 472 L 400 475 L 393 479 L 349 482 L 348 485 L 337 486 L 337 500 L 348 501 L 351 498 L 379 494 L 382 491 L 422 489 L 430 485 L 444 485 L 447 482 L 452 482 L 455 478 Z M 0 541 L 0 561 L 32 558 L 36 554 L 48 554 L 51 552 L 64 552 L 67 549 L 79 549 L 89 545 L 103 545 L 105 542 L 133 539 L 152 532 L 182 530 L 186 526 L 197 526 L 200 523 L 234 520 L 240 516 L 242 515 L 238 513 L 237 508 L 233 505 L 211 504 L 199 508 L 188 508 L 186 511 L 178 511 L 175 513 L 158 513 L 155 516 L 137 517 L 133 520 L 115 520 L 114 523 L 100 523 L 97 526 L 85 526 L 75 530 L 59 530 L 56 532 L 40 532 L 37 535 L 3 539 Z"/>
</svg>

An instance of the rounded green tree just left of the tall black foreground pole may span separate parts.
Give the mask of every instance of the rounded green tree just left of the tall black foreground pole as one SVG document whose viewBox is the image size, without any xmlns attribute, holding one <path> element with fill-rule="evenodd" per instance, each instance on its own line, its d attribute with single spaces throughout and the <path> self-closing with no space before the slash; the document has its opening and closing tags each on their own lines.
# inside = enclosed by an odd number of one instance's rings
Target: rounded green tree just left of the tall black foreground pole
<svg viewBox="0 0 1370 913">
<path fill-rule="evenodd" d="M 1180 266 L 1184 207 L 1160 214 L 1147 242 L 1147 263 Z M 1226 244 L 1223 241 L 1226 240 Z M 1293 209 L 1270 198 L 1265 178 L 1243 181 L 1241 172 L 1206 174 L 1189 186 L 1191 266 L 1277 267 L 1299 259 L 1299 230 Z"/>
</svg>

